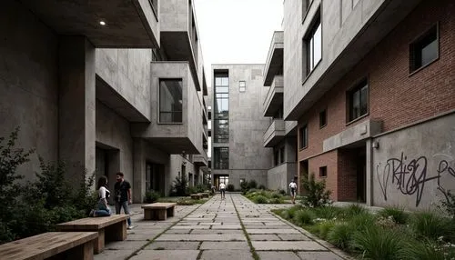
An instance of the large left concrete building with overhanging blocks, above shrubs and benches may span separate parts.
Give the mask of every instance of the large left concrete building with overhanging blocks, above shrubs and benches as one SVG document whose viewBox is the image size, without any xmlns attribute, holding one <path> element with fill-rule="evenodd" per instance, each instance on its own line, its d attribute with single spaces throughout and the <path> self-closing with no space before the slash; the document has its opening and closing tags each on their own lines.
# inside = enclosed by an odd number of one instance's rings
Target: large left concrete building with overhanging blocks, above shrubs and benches
<svg viewBox="0 0 455 260">
<path fill-rule="evenodd" d="M 116 172 L 168 195 L 207 171 L 207 82 L 192 1 L 12 1 L 0 10 L 0 136 L 65 160 L 67 177 Z"/>
</svg>

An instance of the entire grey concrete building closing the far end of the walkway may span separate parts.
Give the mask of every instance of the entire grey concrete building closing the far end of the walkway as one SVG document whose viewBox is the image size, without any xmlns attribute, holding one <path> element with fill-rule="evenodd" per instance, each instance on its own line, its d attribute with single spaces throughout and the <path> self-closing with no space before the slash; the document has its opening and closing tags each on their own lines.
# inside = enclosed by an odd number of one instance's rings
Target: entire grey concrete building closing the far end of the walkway
<svg viewBox="0 0 455 260">
<path fill-rule="evenodd" d="M 255 180 L 268 185 L 272 152 L 263 147 L 268 119 L 263 106 L 268 89 L 263 86 L 264 65 L 212 65 L 213 184 L 240 188 Z"/>
</svg>

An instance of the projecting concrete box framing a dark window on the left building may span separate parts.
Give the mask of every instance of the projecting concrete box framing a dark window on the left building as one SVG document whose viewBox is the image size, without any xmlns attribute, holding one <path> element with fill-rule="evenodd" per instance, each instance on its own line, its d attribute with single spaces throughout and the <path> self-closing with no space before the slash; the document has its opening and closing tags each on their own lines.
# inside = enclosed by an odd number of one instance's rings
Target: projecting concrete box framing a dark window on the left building
<svg viewBox="0 0 455 260">
<path fill-rule="evenodd" d="M 202 153 L 202 102 L 188 62 L 153 62 L 151 75 L 151 124 L 132 124 L 131 134 L 147 139 L 171 155 Z M 182 114 L 178 122 L 160 122 L 159 84 L 162 79 L 182 82 Z"/>
</svg>

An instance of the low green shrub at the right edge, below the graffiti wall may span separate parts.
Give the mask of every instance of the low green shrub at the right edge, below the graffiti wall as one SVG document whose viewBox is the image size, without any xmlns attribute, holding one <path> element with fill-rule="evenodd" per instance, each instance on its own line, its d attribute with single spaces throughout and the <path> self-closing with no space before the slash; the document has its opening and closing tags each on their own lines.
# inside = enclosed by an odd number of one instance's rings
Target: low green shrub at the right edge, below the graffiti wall
<svg viewBox="0 0 455 260">
<path fill-rule="evenodd" d="M 436 215 L 434 212 L 415 213 L 411 218 L 412 230 L 416 235 L 437 239 L 440 236 L 454 240 L 453 220 Z"/>
</svg>

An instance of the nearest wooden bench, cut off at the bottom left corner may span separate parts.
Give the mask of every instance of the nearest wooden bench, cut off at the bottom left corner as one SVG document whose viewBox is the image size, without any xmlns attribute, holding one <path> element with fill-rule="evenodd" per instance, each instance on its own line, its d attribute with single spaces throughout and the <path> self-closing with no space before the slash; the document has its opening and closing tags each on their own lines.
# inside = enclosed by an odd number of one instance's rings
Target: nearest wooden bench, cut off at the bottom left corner
<svg viewBox="0 0 455 260">
<path fill-rule="evenodd" d="M 47 232 L 0 245 L 3 260 L 92 260 L 96 232 Z"/>
</svg>

